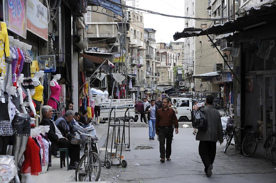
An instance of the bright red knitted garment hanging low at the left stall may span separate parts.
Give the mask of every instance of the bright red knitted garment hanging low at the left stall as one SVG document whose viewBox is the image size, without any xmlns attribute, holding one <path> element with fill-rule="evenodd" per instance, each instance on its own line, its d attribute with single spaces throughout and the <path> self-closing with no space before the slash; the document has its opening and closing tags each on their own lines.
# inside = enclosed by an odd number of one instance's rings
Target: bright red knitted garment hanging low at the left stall
<svg viewBox="0 0 276 183">
<path fill-rule="evenodd" d="M 24 152 L 24 162 L 22 163 L 20 173 L 38 175 L 41 172 L 40 158 L 39 158 L 40 148 L 36 145 L 36 142 L 29 136 L 26 150 Z"/>
</svg>

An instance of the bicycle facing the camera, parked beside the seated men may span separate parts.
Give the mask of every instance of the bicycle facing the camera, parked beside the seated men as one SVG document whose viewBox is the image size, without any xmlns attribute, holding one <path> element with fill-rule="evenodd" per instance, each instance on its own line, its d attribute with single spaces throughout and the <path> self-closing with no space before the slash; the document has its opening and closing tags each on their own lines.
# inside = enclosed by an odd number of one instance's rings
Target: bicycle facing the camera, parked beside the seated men
<svg viewBox="0 0 276 183">
<path fill-rule="evenodd" d="M 98 181 L 101 174 L 101 161 L 98 156 L 98 137 L 77 131 L 79 135 L 88 137 L 84 148 L 84 155 L 79 160 L 75 171 L 76 181 Z"/>
</svg>

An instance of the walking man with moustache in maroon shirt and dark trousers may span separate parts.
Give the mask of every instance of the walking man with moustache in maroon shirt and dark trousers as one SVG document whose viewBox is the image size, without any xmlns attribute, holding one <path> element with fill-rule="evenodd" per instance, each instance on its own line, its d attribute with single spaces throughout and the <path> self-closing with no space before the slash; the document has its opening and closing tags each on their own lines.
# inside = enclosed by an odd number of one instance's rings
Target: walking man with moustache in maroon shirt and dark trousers
<svg viewBox="0 0 276 183">
<path fill-rule="evenodd" d="M 156 135 L 159 136 L 159 151 L 160 151 L 160 161 L 165 162 L 165 157 L 168 161 L 171 160 L 171 141 L 173 137 L 173 127 L 175 127 L 175 134 L 178 133 L 178 120 L 176 118 L 175 112 L 172 108 L 168 107 L 169 100 L 167 98 L 163 99 L 162 108 L 157 111 L 156 115 Z M 166 141 L 166 149 L 165 149 Z"/>
</svg>

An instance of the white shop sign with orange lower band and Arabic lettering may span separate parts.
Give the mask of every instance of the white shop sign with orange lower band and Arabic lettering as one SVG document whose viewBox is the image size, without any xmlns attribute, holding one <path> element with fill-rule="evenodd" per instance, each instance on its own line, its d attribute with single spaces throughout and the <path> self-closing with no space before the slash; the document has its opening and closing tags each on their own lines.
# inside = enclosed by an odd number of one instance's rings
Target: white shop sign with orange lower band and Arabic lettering
<svg viewBox="0 0 276 183">
<path fill-rule="evenodd" d="M 48 11 L 38 0 L 28 0 L 27 30 L 48 41 Z"/>
</svg>

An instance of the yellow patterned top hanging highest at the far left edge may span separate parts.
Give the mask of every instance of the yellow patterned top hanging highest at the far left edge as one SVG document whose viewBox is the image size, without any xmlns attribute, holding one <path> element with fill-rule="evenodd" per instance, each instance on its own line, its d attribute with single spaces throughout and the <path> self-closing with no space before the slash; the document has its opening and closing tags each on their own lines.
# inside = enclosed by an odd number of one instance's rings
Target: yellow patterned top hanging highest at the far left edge
<svg viewBox="0 0 276 183">
<path fill-rule="evenodd" d="M 5 55 L 6 57 L 10 56 L 10 44 L 8 37 L 7 25 L 5 22 L 1 22 L 1 31 L 0 31 L 0 73 L 2 77 L 6 76 L 6 64 L 5 64 Z"/>
</svg>

